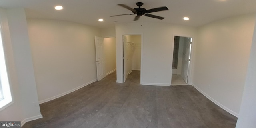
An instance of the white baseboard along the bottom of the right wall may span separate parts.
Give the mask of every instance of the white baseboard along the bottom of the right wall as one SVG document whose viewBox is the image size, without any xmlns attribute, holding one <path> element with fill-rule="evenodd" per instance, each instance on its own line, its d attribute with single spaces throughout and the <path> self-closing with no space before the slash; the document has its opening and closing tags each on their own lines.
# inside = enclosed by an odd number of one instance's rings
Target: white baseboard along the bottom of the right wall
<svg viewBox="0 0 256 128">
<path fill-rule="evenodd" d="M 224 109 L 225 111 L 229 112 L 230 114 L 238 117 L 238 113 L 230 110 L 229 108 L 227 108 L 226 106 L 220 104 L 218 101 L 214 100 L 214 98 L 212 98 L 211 96 L 209 96 L 208 94 L 206 94 L 204 91 L 202 91 L 200 88 L 198 88 L 196 85 L 192 84 L 192 86 L 194 86 L 199 92 L 201 92 L 206 98 L 208 98 L 209 100 L 211 100 L 212 102 L 214 102 L 214 104 L 218 105 L 220 108 Z"/>
</svg>

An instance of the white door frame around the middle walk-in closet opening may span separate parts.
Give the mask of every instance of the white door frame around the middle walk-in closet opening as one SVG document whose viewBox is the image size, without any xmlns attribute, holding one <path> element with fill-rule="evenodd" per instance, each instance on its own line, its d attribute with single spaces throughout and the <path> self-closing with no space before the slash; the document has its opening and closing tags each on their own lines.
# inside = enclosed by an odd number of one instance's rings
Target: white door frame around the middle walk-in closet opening
<svg viewBox="0 0 256 128">
<path fill-rule="evenodd" d="M 121 44 L 122 44 L 122 83 L 124 82 L 124 43 L 123 43 L 123 36 L 126 36 L 126 35 L 140 35 L 141 37 L 141 51 L 140 51 L 140 84 L 142 82 L 142 53 L 143 53 L 143 35 L 142 33 L 139 33 L 139 34 L 122 34 L 122 38 L 121 38 Z"/>
</svg>

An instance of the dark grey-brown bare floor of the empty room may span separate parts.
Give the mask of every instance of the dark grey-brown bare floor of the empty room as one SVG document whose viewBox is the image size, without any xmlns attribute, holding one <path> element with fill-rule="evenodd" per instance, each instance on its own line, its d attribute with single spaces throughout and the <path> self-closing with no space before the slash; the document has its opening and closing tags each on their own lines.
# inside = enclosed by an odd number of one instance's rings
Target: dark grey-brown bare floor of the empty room
<svg viewBox="0 0 256 128">
<path fill-rule="evenodd" d="M 140 85 L 140 71 L 124 83 L 114 72 L 40 109 L 43 118 L 22 128 L 235 128 L 237 120 L 193 86 Z"/>
</svg>

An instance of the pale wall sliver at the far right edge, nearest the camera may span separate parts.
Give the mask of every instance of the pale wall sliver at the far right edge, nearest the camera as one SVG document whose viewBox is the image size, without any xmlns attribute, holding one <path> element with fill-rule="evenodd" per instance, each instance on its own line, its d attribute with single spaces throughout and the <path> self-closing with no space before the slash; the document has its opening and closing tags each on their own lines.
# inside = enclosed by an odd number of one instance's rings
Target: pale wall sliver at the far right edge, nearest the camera
<svg viewBox="0 0 256 128">
<path fill-rule="evenodd" d="M 256 22 L 255 22 L 256 24 Z M 249 65 L 246 73 L 246 81 L 242 104 L 236 124 L 236 128 L 256 128 L 256 26 L 252 38 L 252 47 Z"/>
</svg>

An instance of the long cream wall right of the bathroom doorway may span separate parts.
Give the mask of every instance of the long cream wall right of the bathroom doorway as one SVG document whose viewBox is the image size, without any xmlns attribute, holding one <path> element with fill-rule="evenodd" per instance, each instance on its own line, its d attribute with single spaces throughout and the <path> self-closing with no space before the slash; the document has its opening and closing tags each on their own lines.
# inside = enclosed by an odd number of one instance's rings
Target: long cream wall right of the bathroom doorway
<svg viewBox="0 0 256 128">
<path fill-rule="evenodd" d="M 238 116 L 249 60 L 255 15 L 226 18 L 198 29 L 193 85 Z"/>
</svg>

